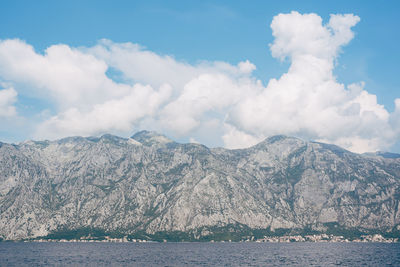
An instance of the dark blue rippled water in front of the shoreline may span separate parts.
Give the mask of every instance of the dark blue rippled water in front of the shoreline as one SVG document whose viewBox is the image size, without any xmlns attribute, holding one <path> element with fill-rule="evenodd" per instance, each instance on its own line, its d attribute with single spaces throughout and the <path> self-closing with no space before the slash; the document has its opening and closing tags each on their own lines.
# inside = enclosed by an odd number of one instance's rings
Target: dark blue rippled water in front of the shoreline
<svg viewBox="0 0 400 267">
<path fill-rule="evenodd" d="M 400 266 L 383 243 L 0 243 L 0 266 Z"/>
</svg>

